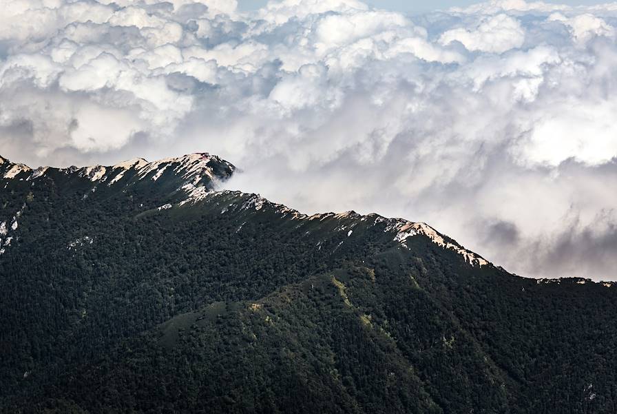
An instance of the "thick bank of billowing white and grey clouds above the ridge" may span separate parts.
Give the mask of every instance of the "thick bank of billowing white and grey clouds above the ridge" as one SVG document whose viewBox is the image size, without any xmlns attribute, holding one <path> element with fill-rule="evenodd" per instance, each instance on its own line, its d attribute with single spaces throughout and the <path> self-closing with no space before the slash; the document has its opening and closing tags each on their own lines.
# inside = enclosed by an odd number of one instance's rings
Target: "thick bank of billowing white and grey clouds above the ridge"
<svg viewBox="0 0 617 414">
<path fill-rule="evenodd" d="M 13 0 L 0 154 L 211 152 L 241 170 L 227 188 L 309 214 L 427 222 L 523 276 L 617 280 L 617 3 L 401 10 Z"/>
</svg>

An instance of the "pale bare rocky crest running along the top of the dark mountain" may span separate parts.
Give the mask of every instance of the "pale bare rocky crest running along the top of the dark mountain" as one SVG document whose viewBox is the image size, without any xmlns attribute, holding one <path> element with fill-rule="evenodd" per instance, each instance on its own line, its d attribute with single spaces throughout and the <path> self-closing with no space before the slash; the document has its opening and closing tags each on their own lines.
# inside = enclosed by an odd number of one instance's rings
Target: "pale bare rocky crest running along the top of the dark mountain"
<svg viewBox="0 0 617 414">
<path fill-rule="evenodd" d="M 211 166 L 212 164 L 218 164 L 216 171 Z M 172 165 L 174 167 L 168 170 L 168 168 Z M 175 203 L 169 204 L 171 207 L 179 207 L 187 203 L 196 203 L 203 200 L 206 196 L 211 196 L 220 190 L 223 194 L 234 193 L 236 195 L 245 194 L 249 196 L 250 198 L 247 200 L 245 208 L 255 208 L 256 210 L 259 210 L 266 205 L 272 209 L 275 209 L 275 211 L 282 213 L 283 217 L 291 215 L 294 219 L 299 220 L 315 220 L 327 217 L 354 217 L 358 220 L 374 219 L 375 222 L 385 221 L 388 223 L 386 231 L 393 231 L 395 234 L 394 240 L 400 242 L 403 246 L 406 246 L 405 241 L 408 237 L 419 234 L 421 236 L 426 236 L 426 238 L 430 239 L 436 245 L 439 245 L 444 249 L 456 251 L 463 256 L 466 262 L 470 265 L 477 265 L 479 267 L 490 265 L 509 273 L 507 270 L 503 269 L 503 267 L 496 266 L 478 253 L 470 251 L 462 245 L 459 245 L 456 240 L 450 236 L 442 234 L 426 222 L 414 222 L 405 218 L 387 218 L 377 213 L 362 215 L 357 214 L 353 210 L 339 213 L 330 211 L 327 213 L 303 214 L 300 211 L 287 207 L 281 203 L 275 203 L 271 200 L 267 200 L 266 198 L 260 196 L 260 194 L 243 193 L 237 191 L 234 192 L 233 190 L 222 189 L 222 184 L 228 180 L 234 172 L 236 172 L 236 166 L 220 158 L 220 156 L 210 154 L 209 152 L 189 153 L 184 156 L 161 158 L 156 161 L 147 161 L 145 158 L 138 157 L 121 161 L 114 165 L 89 165 L 83 167 L 76 167 L 74 165 L 70 167 L 41 166 L 34 169 L 23 163 L 12 163 L 8 158 L 0 155 L 0 178 L 19 178 L 19 180 L 31 181 L 36 178 L 44 177 L 46 173 L 52 171 L 61 172 L 67 175 L 76 174 L 81 178 L 88 178 L 95 185 L 107 182 L 106 185 L 108 187 L 112 187 L 112 185 L 120 182 L 122 178 L 124 178 L 125 174 L 129 176 L 131 172 L 135 173 L 137 180 L 145 180 L 148 178 L 154 182 L 156 182 L 160 176 L 165 174 L 166 171 L 173 172 L 176 176 L 180 176 L 183 181 L 180 181 L 180 185 L 175 190 L 176 195 L 179 195 L 180 198 L 176 197 L 174 200 Z M 30 175 L 24 176 L 23 174 Z M 134 182 L 129 180 L 129 183 L 125 183 L 125 185 L 130 185 L 132 183 Z M 94 187 L 94 191 L 96 191 L 96 186 Z M 160 205 L 157 208 L 167 209 L 167 205 L 168 204 Z M 1 224 L 5 225 L 5 227 L 7 225 L 6 222 Z M 535 278 L 534 276 L 523 277 L 533 278 L 534 280 L 538 280 L 538 283 L 558 283 L 563 279 L 579 280 L 581 283 L 594 282 L 589 278 L 581 278 L 576 276 L 563 276 L 558 278 Z M 614 284 L 614 282 L 605 280 L 598 280 L 595 282 L 603 284 L 605 287 L 611 287 Z"/>
</svg>

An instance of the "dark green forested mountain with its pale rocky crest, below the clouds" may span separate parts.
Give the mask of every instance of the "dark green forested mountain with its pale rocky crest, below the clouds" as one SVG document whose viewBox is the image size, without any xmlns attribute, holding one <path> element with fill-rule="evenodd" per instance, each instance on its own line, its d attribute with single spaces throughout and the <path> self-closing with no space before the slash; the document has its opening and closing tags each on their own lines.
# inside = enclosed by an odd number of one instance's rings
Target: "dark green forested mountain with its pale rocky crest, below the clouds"
<svg viewBox="0 0 617 414">
<path fill-rule="evenodd" d="M 1 412 L 617 413 L 612 284 L 216 192 L 218 157 L 0 160 Z"/>
</svg>

